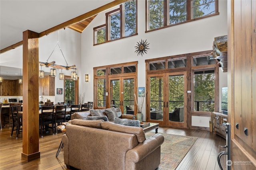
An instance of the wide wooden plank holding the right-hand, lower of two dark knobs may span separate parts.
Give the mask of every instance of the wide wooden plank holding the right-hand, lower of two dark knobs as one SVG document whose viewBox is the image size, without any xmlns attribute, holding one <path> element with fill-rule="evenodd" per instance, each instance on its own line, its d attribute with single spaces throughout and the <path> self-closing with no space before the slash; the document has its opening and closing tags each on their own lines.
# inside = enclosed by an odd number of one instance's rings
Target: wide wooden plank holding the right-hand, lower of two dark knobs
<svg viewBox="0 0 256 170">
<path fill-rule="evenodd" d="M 242 131 L 248 129 L 248 135 L 242 132 L 242 140 L 252 147 L 252 42 L 251 42 L 251 1 L 242 1 Z"/>
</svg>

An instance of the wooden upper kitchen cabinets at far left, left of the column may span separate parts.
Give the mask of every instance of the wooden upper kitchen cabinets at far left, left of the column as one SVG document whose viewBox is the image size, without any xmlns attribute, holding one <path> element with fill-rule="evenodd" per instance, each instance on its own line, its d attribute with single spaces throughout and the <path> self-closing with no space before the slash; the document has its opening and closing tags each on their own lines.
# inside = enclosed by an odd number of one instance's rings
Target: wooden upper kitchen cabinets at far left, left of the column
<svg viewBox="0 0 256 170">
<path fill-rule="evenodd" d="M 22 84 L 18 80 L 4 79 L 0 84 L 0 96 L 22 96 Z"/>
</svg>

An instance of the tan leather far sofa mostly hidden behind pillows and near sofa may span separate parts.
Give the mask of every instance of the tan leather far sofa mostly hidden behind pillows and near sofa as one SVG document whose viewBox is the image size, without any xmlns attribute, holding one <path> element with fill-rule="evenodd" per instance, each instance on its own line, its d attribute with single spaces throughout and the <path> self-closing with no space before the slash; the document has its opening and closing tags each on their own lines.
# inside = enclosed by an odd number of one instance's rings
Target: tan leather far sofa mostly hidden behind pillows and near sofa
<svg viewBox="0 0 256 170">
<path fill-rule="evenodd" d="M 120 108 L 115 108 L 116 112 L 119 113 L 118 114 L 118 117 L 121 118 L 121 119 L 132 119 L 132 120 L 135 120 L 135 115 L 128 115 L 128 114 L 123 114 L 121 112 L 121 109 Z M 103 113 L 103 115 L 106 115 L 108 116 L 106 113 L 105 113 L 105 109 L 100 109 L 100 111 Z M 71 120 L 73 119 L 82 119 L 82 120 L 86 120 L 86 117 L 87 116 L 92 116 L 90 111 L 80 111 L 80 112 L 75 112 L 71 115 Z M 111 122 L 114 122 L 114 120 L 110 120 L 109 121 Z"/>
</svg>

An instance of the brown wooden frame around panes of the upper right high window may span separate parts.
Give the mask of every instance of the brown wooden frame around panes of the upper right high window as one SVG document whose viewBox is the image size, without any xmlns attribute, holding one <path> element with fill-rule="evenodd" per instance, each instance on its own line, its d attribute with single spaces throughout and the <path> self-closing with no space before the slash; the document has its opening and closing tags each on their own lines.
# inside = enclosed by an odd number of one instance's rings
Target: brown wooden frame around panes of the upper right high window
<svg viewBox="0 0 256 170">
<path fill-rule="evenodd" d="M 158 27 L 158 28 L 155 28 L 155 29 L 150 29 L 149 27 L 149 0 L 146 0 L 146 31 L 145 33 L 147 32 L 151 32 L 151 31 L 156 31 L 156 30 L 159 30 L 159 29 L 163 29 L 163 28 L 167 28 L 167 27 L 172 27 L 172 26 L 175 26 L 175 25 L 180 25 L 180 24 L 183 24 L 183 23 L 188 23 L 188 22 L 191 22 L 191 21 L 196 21 L 196 20 L 201 20 L 201 19 L 204 19 L 204 18 L 208 18 L 208 17 L 212 17 L 212 16 L 216 16 L 216 15 L 219 15 L 219 11 L 218 11 L 218 6 L 219 6 L 219 3 L 218 3 L 218 0 L 215 0 L 215 13 L 214 14 L 210 14 L 210 15 L 206 15 L 206 16 L 202 16 L 202 17 L 198 17 L 198 18 L 194 18 L 192 19 L 192 0 L 187 0 L 187 3 L 186 3 L 186 14 L 187 14 L 187 17 L 186 17 L 186 21 L 182 21 L 182 22 L 179 22 L 179 23 L 174 23 L 174 24 L 169 24 L 169 0 L 164 0 L 164 26 L 163 27 Z"/>
</svg>

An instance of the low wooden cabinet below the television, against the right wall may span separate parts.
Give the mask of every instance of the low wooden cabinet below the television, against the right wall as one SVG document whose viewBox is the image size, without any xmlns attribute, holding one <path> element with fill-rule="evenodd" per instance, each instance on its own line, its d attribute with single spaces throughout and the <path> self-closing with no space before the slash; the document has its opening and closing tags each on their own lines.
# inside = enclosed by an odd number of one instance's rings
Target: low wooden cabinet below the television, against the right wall
<svg viewBox="0 0 256 170">
<path fill-rule="evenodd" d="M 226 123 L 228 115 L 214 112 L 214 133 L 226 139 Z"/>
</svg>

